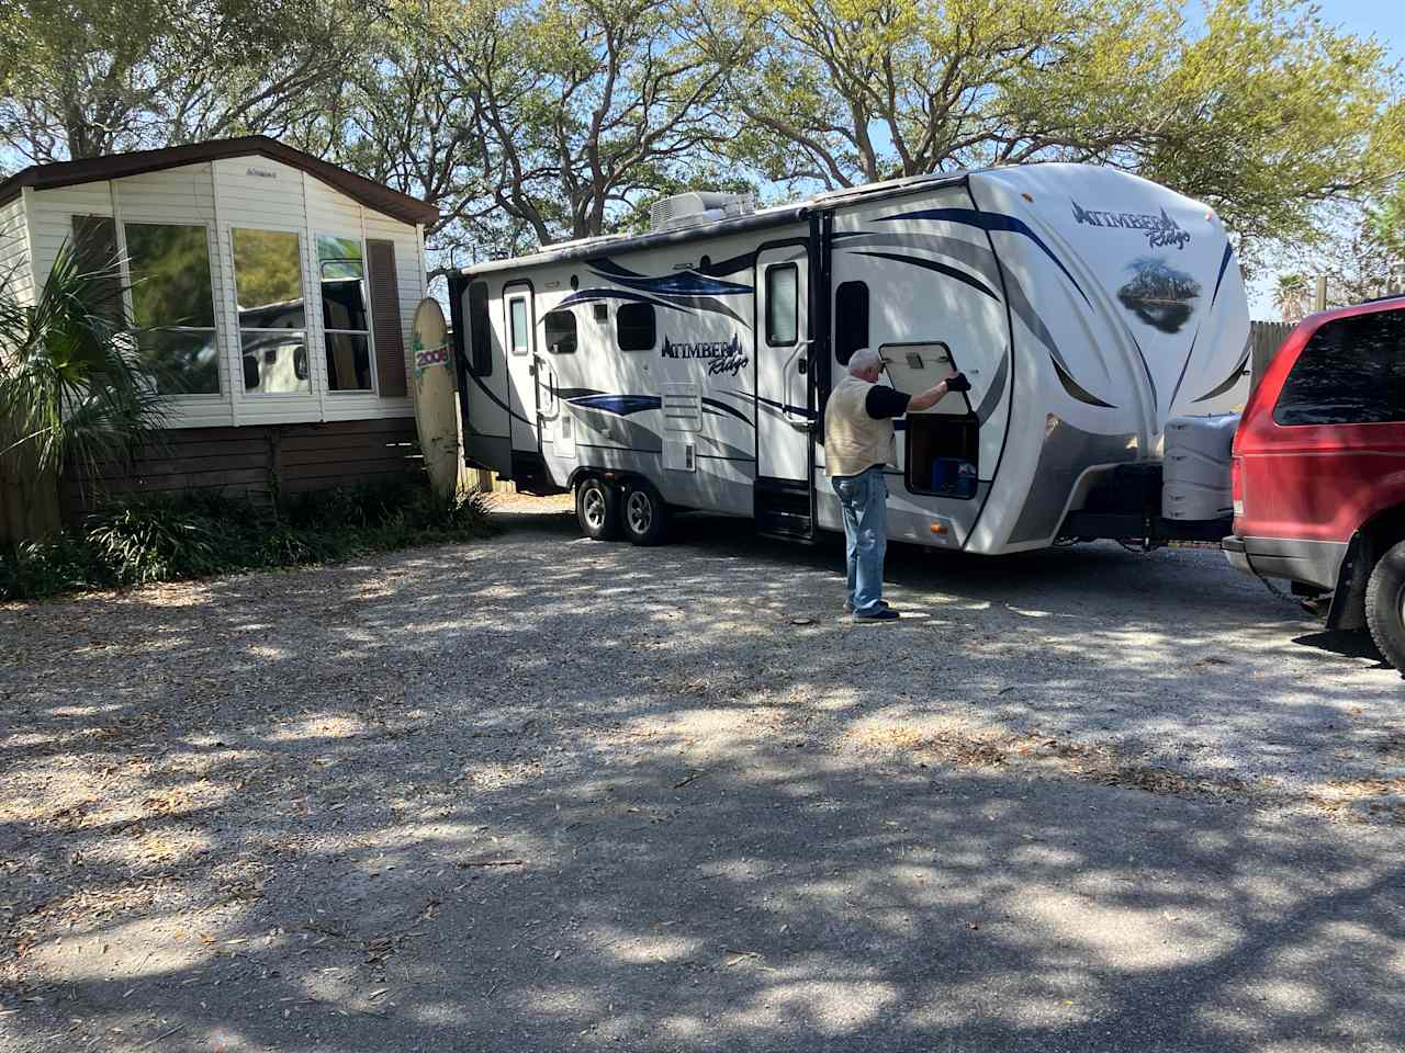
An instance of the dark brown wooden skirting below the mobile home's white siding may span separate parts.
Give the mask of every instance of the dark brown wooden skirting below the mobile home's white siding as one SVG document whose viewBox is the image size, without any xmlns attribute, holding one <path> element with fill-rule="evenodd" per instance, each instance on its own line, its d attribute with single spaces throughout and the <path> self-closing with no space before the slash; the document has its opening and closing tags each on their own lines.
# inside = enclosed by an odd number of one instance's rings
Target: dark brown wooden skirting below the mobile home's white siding
<svg viewBox="0 0 1405 1053">
<path fill-rule="evenodd" d="M 135 470 L 98 466 L 96 476 L 70 468 L 59 487 L 66 521 L 103 496 L 219 493 L 268 503 L 309 490 L 374 483 L 423 470 L 409 417 L 178 428 L 143 449 Z"/>
</svg>

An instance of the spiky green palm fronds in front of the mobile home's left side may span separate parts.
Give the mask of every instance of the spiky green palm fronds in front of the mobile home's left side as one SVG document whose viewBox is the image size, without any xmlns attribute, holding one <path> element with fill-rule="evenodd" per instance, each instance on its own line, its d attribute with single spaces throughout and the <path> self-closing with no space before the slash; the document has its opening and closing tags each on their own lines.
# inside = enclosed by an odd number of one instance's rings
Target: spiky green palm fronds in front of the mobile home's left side
<svg viewBox="0 0 1405 1053">
<path fill-rule="evenodd" d="M 0 275 L 0 459 L 56 483 L 98 466 L 131 468 L 164 409 L 136 352 L 117 258 L 84 265 L 84 246 L 59 247 L 34 303 Z"/>
</svg>

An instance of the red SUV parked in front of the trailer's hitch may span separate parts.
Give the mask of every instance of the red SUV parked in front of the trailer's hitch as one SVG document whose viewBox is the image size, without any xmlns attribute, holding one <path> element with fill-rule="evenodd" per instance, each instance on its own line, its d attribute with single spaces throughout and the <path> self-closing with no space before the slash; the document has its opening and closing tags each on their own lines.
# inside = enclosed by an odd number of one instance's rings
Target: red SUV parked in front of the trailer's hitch
<svg viewBox="0 0 1405 1053">
<path fill-rule="evenodd" d="M 1229 563 L 1331 594 L 1405 670 L 1405 298 L 1312 314 L 1288 334 L 1234 439 Z"/>
</svg>

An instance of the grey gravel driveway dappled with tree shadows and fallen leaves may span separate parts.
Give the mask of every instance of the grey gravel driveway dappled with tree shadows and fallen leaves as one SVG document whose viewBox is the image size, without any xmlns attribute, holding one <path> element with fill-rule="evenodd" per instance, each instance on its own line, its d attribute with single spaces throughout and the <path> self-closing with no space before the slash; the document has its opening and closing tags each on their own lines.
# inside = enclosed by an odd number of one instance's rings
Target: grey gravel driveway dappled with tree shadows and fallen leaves
<svg viewBox="0 0 1405 1053">
<path fill-rule="evenodd" d="M 1405 689 L 1218 553 L 561 503 L 0 607 L 0 1050 L 1398 1050 Z"/>
</svg>

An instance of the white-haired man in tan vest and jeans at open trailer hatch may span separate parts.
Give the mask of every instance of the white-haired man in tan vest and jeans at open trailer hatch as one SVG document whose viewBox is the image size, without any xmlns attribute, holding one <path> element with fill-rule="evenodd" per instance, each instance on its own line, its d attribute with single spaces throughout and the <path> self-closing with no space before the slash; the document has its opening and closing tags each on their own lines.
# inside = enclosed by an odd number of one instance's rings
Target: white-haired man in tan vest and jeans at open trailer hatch
<svg viewBox="0 0 1405 1053">
<path fill-rule="evenodd" d="M 951 373 L 922 395 L 878 383 L 884 359 L 867 347 L 849 359 L 849 375 L 825 406 L 825 473 L 844 510 L 849 549 L 849 611 L 860 622 L 891 622 L 898 612 L 882 598 L 882 557 L 888 550 L 888 483 L 884 465 L 896 461 L 892 418 L 927 410 L 948 392 L 969 392 L 964 373 Z"/>
</svg>

